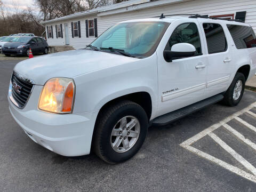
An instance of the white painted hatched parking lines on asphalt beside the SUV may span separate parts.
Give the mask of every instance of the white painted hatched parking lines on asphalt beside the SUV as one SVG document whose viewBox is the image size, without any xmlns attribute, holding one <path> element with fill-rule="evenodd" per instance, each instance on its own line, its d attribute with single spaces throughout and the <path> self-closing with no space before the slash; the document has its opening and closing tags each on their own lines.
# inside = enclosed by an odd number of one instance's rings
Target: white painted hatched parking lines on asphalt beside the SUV
<svg viewBox="0 0 256 192">
<path fill-rule="evenodd" d="M 219 123 L 216 123 L 210 127 L 208 127 L 207 129 L 205 129 L 204 131 L 194 135 L 193 137 L 189 138 L 188 140 L 182 142 L 180 144 L 181 147 L 188 149 L 189 151 L 204 157 L 206 159 L 208 159 L 209 161 L 212 161 L 214 163 L 217 163 L 218 165 L 224 167 L 225 169 L 236 173 L 238 175 L 240 175 L 241 177 L 244 177 L 250 181 L 253 181 L 256 183 L 256 169 L 254 166 L 252 166 L 249 162 L 246 161 L 246 159 L 244 159 L 241 155 L 239 155 L 238 153 L 236 153 L 236 151 L 234 149 L 232 149 L 231 147 L 229 147 L 225 142 L 223 142 L 217 135 L 215 135 L 214 133 L 212 133 L 214 130 L 218 129 L 220 126 L 224 126 L 227 130 L 229 130 L 231 133 L 233 133 L 238 139 L 241 139 L 242 141 L 244 141 L 247 145 L 251 146 L 253 149 L 255 149 L 255 143 L 253 143 L 252 141 L 250 141 L 249 139 L 244 138 L 244 136 L 237 132 L 236 130 L 234 130 L 232 127 L 230 127 L 229 125 L 227 125 L 226 123 L 231 121 L 232 119 L 236 119 L 237 121 L 239 121 L 240 123 L 246 125 L 247 127 L 249 127 L 251 130 L 256 132 L 256 128 L 245 122 L 243 119 L 239 118 L 239 115 L 242 115 L 244 113 L 248 113 L 248 111 L 250 109 L 252 109 L 253 107 L 256 107 L 256 102 L 252 103 L 250 106 L 246 107 L 245 109 L 238 111 L 237 113 L 230 115 L 229 117 L 223 119 L 222 121 L 220 121 Z M 249 111 L 249 114 L 251 114 L 252 112 Z M 254 113 L 253 113 L 254 114 Z M 254 115 L 252 115 L 254 116 Z M 231 129 L 230 129 L 231 128 Z M 253 174 L 245 172 L 241 169 L 239 169 L 238 167 L 235 167 L 233 165 L 230 165 L 224 161 L 221 161 L 218 158 L 215 158 L 209 154 L 204 153 L 201 150 L 196 149 L 195 147 L 192 147 L 191 145 L 196 142 L 197 140 L 205 137 L 205 135 L 209 135 L 215 142 L 217 142 L 223 149 L 225 149 L 230 155 L 232 155 L 235 159 L 237 159 L 237 161 L 239 163 L 241 163 L 244 167 L 246 167 L 247 170 L 251 171 Z M 256 150 L 256 149 L 255 149 Z"/>
</svg>

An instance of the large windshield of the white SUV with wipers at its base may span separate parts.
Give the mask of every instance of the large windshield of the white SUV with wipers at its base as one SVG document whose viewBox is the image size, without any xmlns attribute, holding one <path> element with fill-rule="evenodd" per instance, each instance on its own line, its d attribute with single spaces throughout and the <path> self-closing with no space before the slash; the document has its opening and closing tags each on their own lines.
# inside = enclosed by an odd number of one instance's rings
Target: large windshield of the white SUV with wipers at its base
<svg viewBox="0 0 256 192">
<path fill-rule="evenodd" d="M 148 57 L 155 52 L 169 25 L 170 23 L 162 21 L 118 23 L 106 30 L 91 45 L 98 49 L 113 47 L 135 57 Z"/>
</svg>

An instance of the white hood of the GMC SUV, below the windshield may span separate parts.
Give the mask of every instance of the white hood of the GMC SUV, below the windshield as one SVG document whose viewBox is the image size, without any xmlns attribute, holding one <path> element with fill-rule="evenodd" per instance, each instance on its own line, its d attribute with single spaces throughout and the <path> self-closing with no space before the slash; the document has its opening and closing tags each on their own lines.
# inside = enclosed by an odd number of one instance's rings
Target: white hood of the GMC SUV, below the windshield
<svg viewBox="0 0 256 192">
<path fill-rule="evenodd" d="M 21 61 L 14 67 L 14 70 L 33 80 L 35 84 L 44 85 L 53 77 L 73 78 L 137 60 L 140 59 L 101 51 L 72 50 Z"/>
</svg>

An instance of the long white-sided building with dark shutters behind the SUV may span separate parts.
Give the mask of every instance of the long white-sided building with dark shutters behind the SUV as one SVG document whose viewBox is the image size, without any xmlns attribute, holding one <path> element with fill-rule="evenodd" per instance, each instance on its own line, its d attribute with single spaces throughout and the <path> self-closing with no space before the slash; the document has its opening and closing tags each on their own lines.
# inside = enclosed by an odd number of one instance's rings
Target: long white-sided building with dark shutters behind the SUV
<svg viewBox="0 0 256 192">
<path fill-rule="evenodd" d="M 168 14 L 200 14 L 208 17 L 240 19 L 256 32 L 256 1 L 252 0 L 131 0 L 45 21 L 50 46 L 84 48 L 117 22 Z M 116 35 L 125 35 L 118 31 Z M 115 47 L 122 47 L 116 42 Z M 114 47 L 114 46 L 113 46 Z"/>
</svg>

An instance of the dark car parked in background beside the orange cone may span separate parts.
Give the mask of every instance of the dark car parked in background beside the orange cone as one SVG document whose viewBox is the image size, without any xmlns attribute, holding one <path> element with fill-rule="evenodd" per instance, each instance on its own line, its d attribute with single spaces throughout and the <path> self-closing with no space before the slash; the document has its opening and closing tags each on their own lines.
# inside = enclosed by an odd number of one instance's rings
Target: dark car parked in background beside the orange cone
<svg viewBox="0 0 256 192">
<path fill-rule="evenodd" d="M 29 48 L 33 54 L 47 54 L 49 46 L 41 37 L 17 37 L 2 47 L 2 54 L 10 55 L 29 55 Z"/>
</svg>

